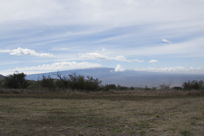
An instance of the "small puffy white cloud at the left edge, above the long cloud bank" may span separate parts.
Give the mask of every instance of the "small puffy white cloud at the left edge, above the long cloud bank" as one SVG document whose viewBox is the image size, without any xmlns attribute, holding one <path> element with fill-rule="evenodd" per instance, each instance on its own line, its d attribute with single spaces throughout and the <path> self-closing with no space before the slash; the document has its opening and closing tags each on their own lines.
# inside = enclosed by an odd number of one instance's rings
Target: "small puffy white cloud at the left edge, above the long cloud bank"
<svg viewBox="0 0 204 136">
<path fill-rule="evenodd" d="M 54 55 L 50 53 L 40 53 L 35 50 L 26 49 L 26 48 L 16 48 L 12 50 L 1 50 L 0 49 L 0 53 L 8 53 L 14 56 L 29 55 L 29 56 L 36 56 L 36 57 L 54 57 Z"/>
</svg>

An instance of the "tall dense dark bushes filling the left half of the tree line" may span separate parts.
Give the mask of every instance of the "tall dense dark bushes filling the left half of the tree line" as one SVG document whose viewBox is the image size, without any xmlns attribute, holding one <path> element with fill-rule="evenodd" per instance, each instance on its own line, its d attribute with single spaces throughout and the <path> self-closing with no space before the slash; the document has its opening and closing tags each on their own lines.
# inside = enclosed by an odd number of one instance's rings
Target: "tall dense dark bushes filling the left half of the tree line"
<svg viewBox="0 0 204 136">
<path fill-rule="evenodd" d="M 1 88 L 8 89 L 46 89 L 50 91 L 55 90 L 86 90 L 86 91 L 97 91 L 101 89 L 101 81 L 87 76 L 82 75 L 68 75 L 62 77 L 58 75 L 57 79 L 51 78 L 50 76 L 43 76 L 42 80 L 39 81 L 28 81 L 25 79 L 24 73 L 15 73 L 9 75 L 0 83 Z"/>
</svg>

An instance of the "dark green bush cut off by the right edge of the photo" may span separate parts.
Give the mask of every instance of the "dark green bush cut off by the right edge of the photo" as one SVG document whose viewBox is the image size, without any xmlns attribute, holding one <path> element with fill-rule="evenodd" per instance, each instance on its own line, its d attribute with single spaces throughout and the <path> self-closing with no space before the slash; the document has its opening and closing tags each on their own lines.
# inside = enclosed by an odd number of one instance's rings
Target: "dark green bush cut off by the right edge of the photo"
<svg viewBox="0 0 204 136">
<path fill-rule="evenodd" d="M 183 83 L 183 89 L 185 90 L 200 90 L 204 89 L 204 82 L 203 81 L 188 81 Z"/>
</svg>

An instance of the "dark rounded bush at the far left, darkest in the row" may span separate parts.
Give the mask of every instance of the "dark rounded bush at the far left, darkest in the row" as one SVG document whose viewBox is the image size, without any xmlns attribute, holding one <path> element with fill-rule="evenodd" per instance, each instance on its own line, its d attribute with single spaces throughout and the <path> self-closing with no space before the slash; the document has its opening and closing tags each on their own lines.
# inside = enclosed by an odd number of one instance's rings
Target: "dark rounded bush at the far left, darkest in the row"
<svg viewBox="0 0 204 136">
<path fill-rule="evenodd" d="M 29 85 L 25 76 L 26 75 L 24 73 L 14 73 L 13 75 L 9 75 L 4 79 L 3 86 L 13 89 L 25 89 Z"/>
</svg>

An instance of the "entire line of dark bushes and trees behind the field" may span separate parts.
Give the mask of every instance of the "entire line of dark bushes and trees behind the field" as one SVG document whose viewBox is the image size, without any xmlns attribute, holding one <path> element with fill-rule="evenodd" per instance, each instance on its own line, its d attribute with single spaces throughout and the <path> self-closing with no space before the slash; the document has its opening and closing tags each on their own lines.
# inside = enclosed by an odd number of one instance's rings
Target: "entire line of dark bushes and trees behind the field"
<svg viewBox="0 0 204 136">
<path fill-rule="evenodd" d="M 27 80 L 24 73 L 14 73 L 0 80 L 0 88 L 8 89 L 47 89 L 55 90 L 81 90 L 81 91 L 98 91 L 98 90 L 135 90 L 135 87 L 125 87 L 115 84 L 102 85 L 102 82 L 91 76 L 82 76 L 77 74 L 70 74 L 62 76 L 57 74 L 57 78 L 51 76 L 43 76 L 41 80 L 33 81 Z M 140 88 L 141 89 L 141 88 Z M 143 88 L 146 90 L 155 88 Z M 170 88 L 167 85 L 161 85 L 160 89 L 174 89 L 174 90 L 202 90 L 204 89 L 204 81 L 188 81 L 184 82 L 182 87 Z"/>
</svg>

